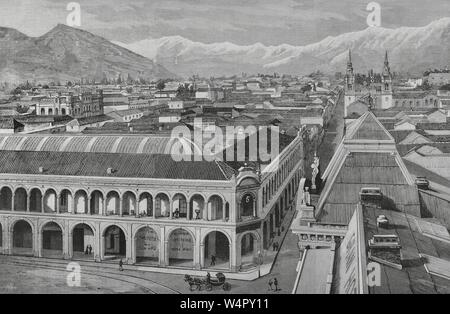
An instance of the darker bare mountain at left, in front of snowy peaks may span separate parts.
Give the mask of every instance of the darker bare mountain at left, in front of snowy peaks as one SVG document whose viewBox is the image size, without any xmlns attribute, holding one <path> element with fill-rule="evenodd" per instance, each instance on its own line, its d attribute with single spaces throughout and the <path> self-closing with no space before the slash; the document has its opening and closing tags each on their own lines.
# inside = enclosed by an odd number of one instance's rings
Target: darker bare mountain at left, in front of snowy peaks
<svg viewBox="0 0 450 314">
<path fill-rule="evenodd" d="M 41 37 L 0 28 L 0 81 L 176 77 L 163 66 L 87 31 L 57 25 Z"/>
</svg>

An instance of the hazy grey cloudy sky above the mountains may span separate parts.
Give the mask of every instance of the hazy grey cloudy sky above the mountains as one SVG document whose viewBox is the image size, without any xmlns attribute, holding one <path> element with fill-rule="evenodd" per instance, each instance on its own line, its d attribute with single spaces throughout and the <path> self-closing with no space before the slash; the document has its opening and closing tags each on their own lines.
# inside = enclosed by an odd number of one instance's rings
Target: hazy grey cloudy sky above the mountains
<svg viewBox="0 0 450 314">
<path fill-rule="evenodd" d="M 66 0 L 0 0 L 0 26 L 40 36 L 65 23 Z M 180 35 L 210 43 L 304 45 L 367 27 L 370 0 L 78 0 L 81 28 L 134 41 Z M 449 0 L 379 0 L 382 27 L 450 16 Z"/>
</svg>

